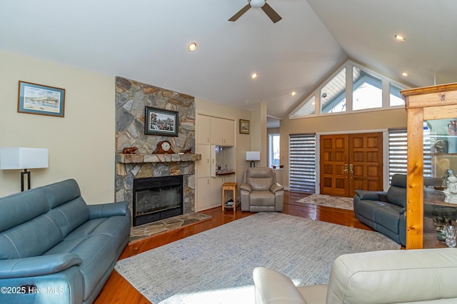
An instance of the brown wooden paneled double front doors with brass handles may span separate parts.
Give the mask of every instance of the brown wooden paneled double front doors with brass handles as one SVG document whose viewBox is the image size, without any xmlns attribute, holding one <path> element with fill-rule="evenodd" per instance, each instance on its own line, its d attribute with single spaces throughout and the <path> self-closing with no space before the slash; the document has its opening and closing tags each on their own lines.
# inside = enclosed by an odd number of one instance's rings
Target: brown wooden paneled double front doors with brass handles
<svg viewBox="0 0 457 304">
<path fill-rule="evenodd" d="M 354 196 L 354 190 L 383 190 L 383 134 L 323 135 L 321 194 Z"/>
</svg>

